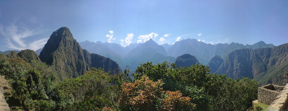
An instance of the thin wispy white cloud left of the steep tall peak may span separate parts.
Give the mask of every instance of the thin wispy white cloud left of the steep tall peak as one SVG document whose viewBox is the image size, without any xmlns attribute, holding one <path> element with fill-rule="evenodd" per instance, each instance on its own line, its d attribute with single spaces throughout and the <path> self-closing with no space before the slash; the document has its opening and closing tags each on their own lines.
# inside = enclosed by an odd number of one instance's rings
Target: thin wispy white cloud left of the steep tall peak
<svg viewBox="0 0 288 111">
<path fill-rule="evenodd" d="M 44 31 L 40 27 L 31 28 L 25 24 L 16 24 L 16 22 L 6 27 L 0 24 L 1 35 L 5 37 L 4 43 L 7 44 L 7 47 L 16 50 L 32 49 L 35 51 L 43 47 L 48 38 L 40 40 L 33 40 L 32 38 Z"/>
</svg>

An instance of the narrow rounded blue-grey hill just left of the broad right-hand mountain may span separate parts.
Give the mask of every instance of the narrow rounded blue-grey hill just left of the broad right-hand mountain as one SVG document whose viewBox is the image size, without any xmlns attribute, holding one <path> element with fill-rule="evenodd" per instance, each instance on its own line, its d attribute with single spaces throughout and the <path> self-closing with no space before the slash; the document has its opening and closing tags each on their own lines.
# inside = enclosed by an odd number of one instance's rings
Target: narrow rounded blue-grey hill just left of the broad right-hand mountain
<svg viewBox="0 0 288 111">
<path fill-rule="evenodd" d="M 224 60 L 220 56 L 214 56 L 208 63 L 210 73 L 215 73 L 223 61 Z"/>
</svg>

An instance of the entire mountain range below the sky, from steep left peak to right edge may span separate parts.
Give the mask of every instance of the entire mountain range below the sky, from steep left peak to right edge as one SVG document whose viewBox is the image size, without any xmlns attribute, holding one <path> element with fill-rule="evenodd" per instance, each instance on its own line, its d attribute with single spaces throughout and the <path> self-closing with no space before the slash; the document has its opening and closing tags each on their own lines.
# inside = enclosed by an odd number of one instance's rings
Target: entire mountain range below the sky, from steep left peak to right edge
<svg viewBox="0 0 288 111">
<path fill-rule="evenodd" d="M 282 75 L 288 68 L 288 44 L 275 47 L 259 41 L 253 45 L 234 42 L 211 45 L 196 39 L 184 39 L 173 45 L 158 45 L 150 39 L 145 43 L 131 43 L 122 47 L 100 41 L 78 43 L 66 27 L 53 32 L 47 44 L 35 52 L 39 53 L 42 62 L 54 66 L 57 73 L 62 74 L 61 79 L 79 76 L 91 67 L 101 67 L 111 73 L 126 68 L 134 72 L 139 64 L 166 61 L 175 62 L 178 67 L 204 64 L 209 66 L 210 73 L 227 74 L 233 79 L 241 76 L 254 78 L 260 85 L 280 85 Z"/>
</svg>

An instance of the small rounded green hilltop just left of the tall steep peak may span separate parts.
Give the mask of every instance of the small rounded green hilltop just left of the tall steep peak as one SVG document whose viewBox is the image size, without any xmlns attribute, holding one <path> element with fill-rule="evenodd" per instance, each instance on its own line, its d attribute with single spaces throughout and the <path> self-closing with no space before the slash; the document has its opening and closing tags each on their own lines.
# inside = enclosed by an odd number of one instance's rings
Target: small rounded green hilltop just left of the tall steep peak
<svg viewBox="0 0 288 111">
<path fill-rule="evenodd" d="M 32 60 L 41 61 L 33 50 L 21 50 L 17 55 L 28 63 L 31 63 Z"/>
</svg>

